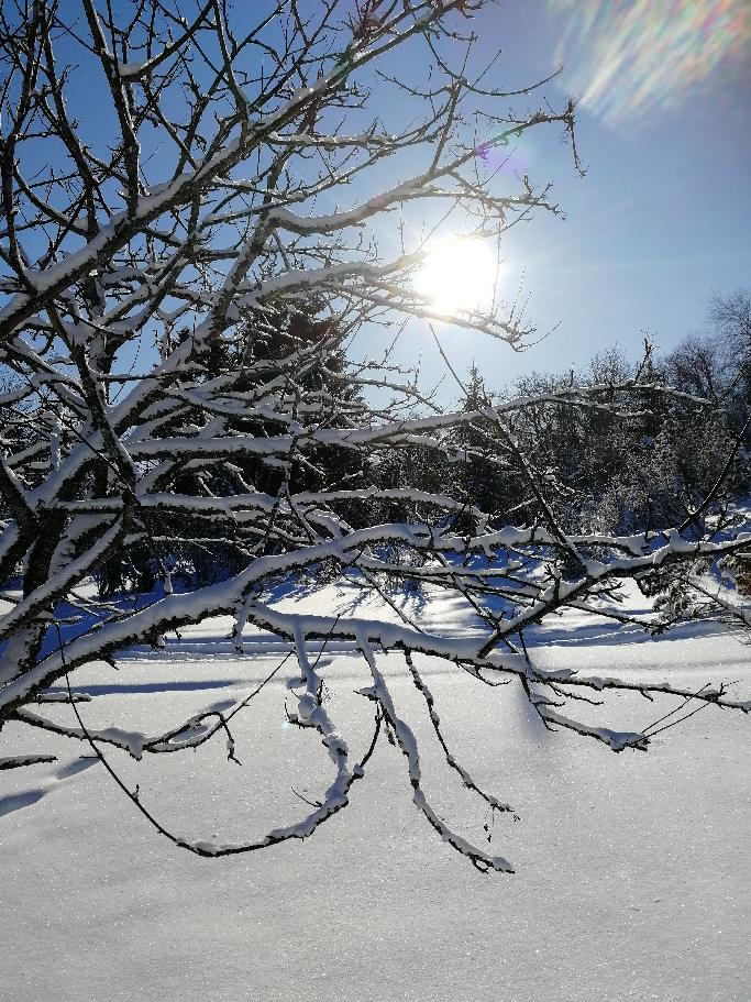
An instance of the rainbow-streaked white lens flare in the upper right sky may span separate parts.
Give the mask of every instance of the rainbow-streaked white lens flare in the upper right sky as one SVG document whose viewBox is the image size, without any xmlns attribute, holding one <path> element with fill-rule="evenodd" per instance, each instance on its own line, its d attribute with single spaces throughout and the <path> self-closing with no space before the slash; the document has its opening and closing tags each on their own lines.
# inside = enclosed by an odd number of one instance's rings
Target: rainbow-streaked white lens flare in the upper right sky
<svg viewBox="0 0 751 1002">
<path fill-rule="evenodd" d="M 678 106 L 751 51 L 749 0 L 548 0 L 581 103 L 611 124 Z"/>
</svg>

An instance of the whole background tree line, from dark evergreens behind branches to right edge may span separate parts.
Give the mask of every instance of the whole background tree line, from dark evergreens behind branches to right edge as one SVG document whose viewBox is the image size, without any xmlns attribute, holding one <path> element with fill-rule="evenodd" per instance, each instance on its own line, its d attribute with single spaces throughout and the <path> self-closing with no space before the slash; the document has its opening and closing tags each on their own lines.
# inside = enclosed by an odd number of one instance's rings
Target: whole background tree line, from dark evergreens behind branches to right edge
<svg viewBox="0 0 751 1002">
<path fill-rule="evenodd" d="M 347 408 L 362 405 L 362 392 L 340 378 L 345 366 L 343 332 L 317 320 L 316 308 L 309 302 L 299 311 L 280 309 L 272 323 L 268 313 L 263 319 L 249 317 L 243 339 L 214 349 L 206 363 L 206 379 L 221 379 L 223 371 L 244 363 L 257 379 L 261 361 L 267 364 L 266 382 L 275 359 L 287 357 L 297 348 L 305 356 L 301 384 L 308 394 L 320 390 L 322 399 L 336 398 L 339 406 L 330 418 L 341 421 Z M 299 494 L 323 486 L 369 488 L 373 496 L 366 505 L 347 509 L 346 503 L 339 503 L 338 514 L 349 516 L 353 528 L 373 519 L 412 517 L 416 513 L 407 508 L 413 502 L 406 506 L 388 492 L 416 481 L 429 493 L 459 492 L 466 511 L 452 518 L 467 531 L 473 511 L 529 526 L 544 524 L 548 507 L 565 531 L 636 535 L 680 524 L 710 492 L 709 511 L 716 513 L 751 483 L 746 450 L 751 442 L 746 427 L 751 414 L 751 296 L 739 290 L 716 297 L 708 320 L 706 333 L 685 338 L 662 356 L 649 342 L 637 362 L 610 348 L 596 354 L 584 371 L 533 372 L 507 392 L 489 390 L 473 364 L 462 384 L 460 407 L 477 417 L 446 433 L 441 444 L 450 449 L 389 442 L 363 463 L 362 456 L 346 450 L 321 448 L 316 456 L 300 458 L 289 467 L 263 456 L 221 460 L 209 472 L 187 471 L 172 489 L 214 496 L 261 492 L 274 497 L 280 489 Z M 660 390 L 665 386 L 676 394 L 666 396 Z M 588 406 L 579 406 L 576 387 L 590 388 Z M 252 394 L 251 376 L 244 389 Z M 506 399 L 520 395 L 535 401 L 515 408 L 508 434 L 499 440 L 497 420 L 484 414 L 489 409 L 495 415 Z M 310 398 L 300 405 L 310 406 Z M 152 433 L 175 434 L 178 425 L 190 421 L 186 406 L 179 418 L 170 412 Z M 261 429 L 258 422 L 243 418 L 230 427 L 247 434 Z M 726 470 L 733 450 L 735 461 Z M 185 586 L 197 587 L 224 580 L 247 563 L 243 544 L 229 537 L 225 527 L 214 528 L 209 517 L 156 511 L 146 518 L 153 522 L 152 538 L 106 561 L 98 572 L 103 594 L 148 592 L 157 581 L 176 576 Z M 704 528 L 704 522 L 696 528 Z"/>
</svg>

